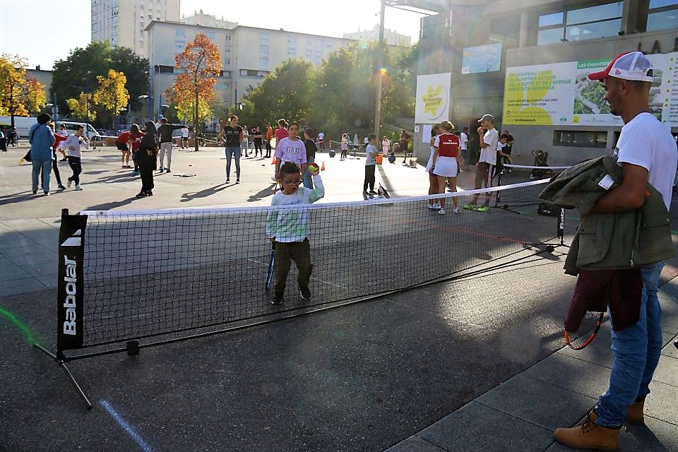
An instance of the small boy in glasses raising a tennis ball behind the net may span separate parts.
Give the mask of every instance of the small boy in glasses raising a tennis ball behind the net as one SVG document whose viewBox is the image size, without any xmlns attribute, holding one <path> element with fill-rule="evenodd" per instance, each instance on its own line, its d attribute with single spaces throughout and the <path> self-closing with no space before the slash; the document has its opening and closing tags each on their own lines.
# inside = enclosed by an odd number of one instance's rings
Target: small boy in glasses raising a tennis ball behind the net
<svg viewBox="0 0 678 452">
<path fill-rule="evenodd" d="M 302 170 L 293 162 L 280 166 L 278 179 L 283 191 L 278 191 L 270 201 L 271 206 L 301 206 L 318 201 L 325 196 L 325 187 L 320 178 L 319 168 L 309 165 L 313 177 L 314 189 L 299 186 L 302 183 Z M 275 298 L 271 304 L 283 304 L 287 273 L 291 261 L 297 264 L 299 276 L 299 294 L 302 299 L 311 299 L 309 280 L 311 279 L 311 246 L 309 245 L 309 213 L 305 208 L 274 210 L 266 218 L 266 236 L 275 249 Z"/>
</svg>

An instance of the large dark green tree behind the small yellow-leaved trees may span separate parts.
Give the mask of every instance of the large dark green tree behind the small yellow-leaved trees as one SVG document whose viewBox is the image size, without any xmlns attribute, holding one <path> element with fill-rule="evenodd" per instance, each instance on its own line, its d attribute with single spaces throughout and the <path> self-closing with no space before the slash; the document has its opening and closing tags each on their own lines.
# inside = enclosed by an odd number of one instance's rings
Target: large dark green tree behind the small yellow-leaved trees
<svg viewBox="0 0 678 452">
<path fill-rule="evenodd" d="M 106 77 L 109 69 L 114 69 L 125 74 L 131 107 L 139 108 L 141 102 L 137 97 L 148 92 L 148 66 L 148 59 L 137 57 L 131 49 L 112 48 L 107 42 L 91 42 L 84 49 L 73 49 L 68 58 L 54 63 L 52 93 L 57 95 L 61 112 L 69 112 L 66 99 L 77 99 L 85 90 L 94 93 L 98 86 L 97 76 Z M 96 105 L 93 108 L 104 111 Z"/>
</svg>

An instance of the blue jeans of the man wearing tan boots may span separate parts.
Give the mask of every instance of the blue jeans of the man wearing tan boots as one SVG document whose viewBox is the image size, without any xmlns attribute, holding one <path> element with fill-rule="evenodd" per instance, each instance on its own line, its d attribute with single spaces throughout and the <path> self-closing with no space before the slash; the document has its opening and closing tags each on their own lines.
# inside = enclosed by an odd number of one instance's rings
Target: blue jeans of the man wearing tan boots
<svg viewBox="0 0 678 452">
<path fill-rule="evenodd" d="M 663 262 L 643 267 L 641 316 L 634 326 L 612 330 L 612 371 L 609 388 L 600 396 L 595 412 L 596 424 L 619 427 L 626 419 L 626 408 L 650 393 L 652 380 L 662 352 L 662 309 L 657 297 Z M 612 320 L 611 320 L 612 322 Z"/>
</svg>

